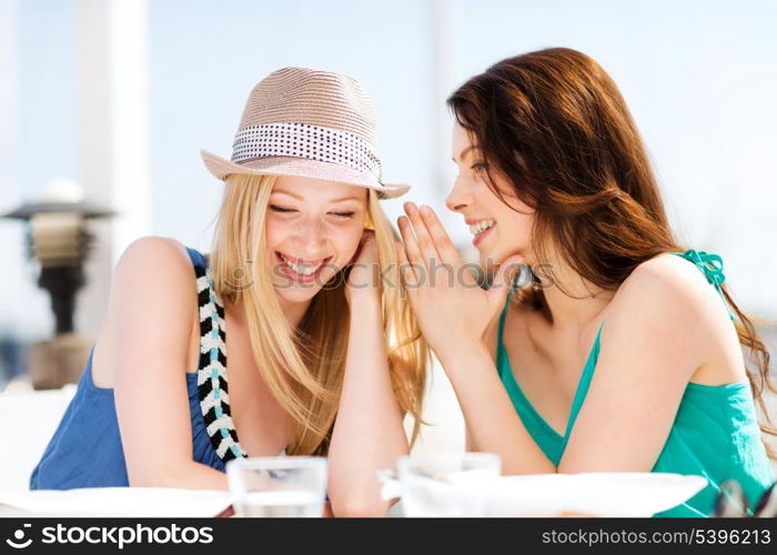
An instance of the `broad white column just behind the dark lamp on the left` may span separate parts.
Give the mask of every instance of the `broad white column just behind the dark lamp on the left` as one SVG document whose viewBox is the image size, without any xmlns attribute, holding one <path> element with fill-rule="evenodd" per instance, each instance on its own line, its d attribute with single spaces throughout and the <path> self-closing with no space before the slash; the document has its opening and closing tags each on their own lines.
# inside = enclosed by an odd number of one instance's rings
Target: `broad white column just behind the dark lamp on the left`
<svg viewBox="0 0 777 555">
<path fill-rule="evenodd" d="M 77 329 L 94 339 L 117 260 L 149 232 L 145 7 L 144 0 L 78 0 L 79 180 L 89 201 L 119 213 L 90 224 L 98 240 Z"/>
</svg>

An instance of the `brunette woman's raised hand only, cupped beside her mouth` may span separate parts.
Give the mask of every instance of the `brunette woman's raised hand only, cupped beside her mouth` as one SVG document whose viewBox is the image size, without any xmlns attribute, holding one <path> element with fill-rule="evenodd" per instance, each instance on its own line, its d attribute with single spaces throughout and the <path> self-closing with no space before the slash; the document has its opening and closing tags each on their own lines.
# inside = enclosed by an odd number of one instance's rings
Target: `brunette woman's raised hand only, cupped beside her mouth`
<svg viewBox="0 0 777 555">
<path fill-rule="evenodd" d="M 445 365 L 483 344 L 523 258 L 504 261 L 491 289 L 484 291 L 434 211 L 412 202 L 404 208 L 407 215 L 398 219 L 404 248 L 397 245 L 402 275 L 421 331 Z"/>
</svg>

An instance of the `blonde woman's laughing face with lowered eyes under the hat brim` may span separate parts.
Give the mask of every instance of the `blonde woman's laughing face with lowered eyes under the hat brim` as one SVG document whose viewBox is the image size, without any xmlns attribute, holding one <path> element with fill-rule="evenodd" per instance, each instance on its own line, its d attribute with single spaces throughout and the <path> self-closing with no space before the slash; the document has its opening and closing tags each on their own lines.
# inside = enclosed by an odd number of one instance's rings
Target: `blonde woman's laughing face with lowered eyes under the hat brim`
<svg viewBox="0 0 777 555">
<path fill-rule="evenodd" d="M 268 264 L 282 301 L 310 301 L 347 265 L 364 231 L 363 186 L 280 176 L 265 218 Z"/>
</svg>

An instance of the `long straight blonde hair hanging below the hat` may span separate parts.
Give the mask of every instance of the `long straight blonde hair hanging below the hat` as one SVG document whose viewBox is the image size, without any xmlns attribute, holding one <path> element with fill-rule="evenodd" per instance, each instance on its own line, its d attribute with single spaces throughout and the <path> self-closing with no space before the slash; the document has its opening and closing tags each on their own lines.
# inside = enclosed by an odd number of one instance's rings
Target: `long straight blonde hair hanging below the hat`
<svg viewBox="0 0 777 555">
<path fill-rule="evenodd" d="M 245 309 L 259 373 L 293 421 L 286 452 L 325 454 L 340 402 L 349 343 L 350 310 L 342 271 L 312 300 L 297 330 L 281 311 L 268 268 L 265 213 L 275 178 L 226 178 L 211 253 L 213 285 L 222 300 Z M 367 216 L 375 229 L 389 369 L 394 394 L 414 418 L 411 443 L 421 424 L 428 347 L 411 312 L 394 243 L 397 235 L 369 190 Z"/>
</svg>

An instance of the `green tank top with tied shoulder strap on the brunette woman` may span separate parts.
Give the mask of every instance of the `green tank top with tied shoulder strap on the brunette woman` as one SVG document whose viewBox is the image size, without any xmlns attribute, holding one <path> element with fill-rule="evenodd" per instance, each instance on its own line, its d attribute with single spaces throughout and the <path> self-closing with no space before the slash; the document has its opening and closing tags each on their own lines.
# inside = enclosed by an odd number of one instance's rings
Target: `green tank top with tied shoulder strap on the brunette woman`
<svg viewBox="0 0 777 555">
<path fill-rule="evenodd" d="M 720 256 L 694 250 L 674 254 L 696 264 L 723 296 L 720 285 L 725 278 Z M 583 367 L 566 430 L 564 435 L 559 435 L 532 406 L 513 375 L 502 342 L 508 304 L 509 297 L 500 317 L 496 347 L 500 379 L 534 442 L 554 465 L 558 465 L 594 375 L 604 322 Z M 730 309 L 729 315 L 734 320 Z M 741 485 L 748 504 L 753 507 L 775 482 L 775 476 L 760 441 L 749 384 L 737 382 L 712 386 L 689 382 L 669 436 L 652 472 L 695 474 L 707 478 L 707 487 L 686 503 L 654 516 L 709 516 L 720 484 L 727 480 L 736 480 Z"/>
</svg>

